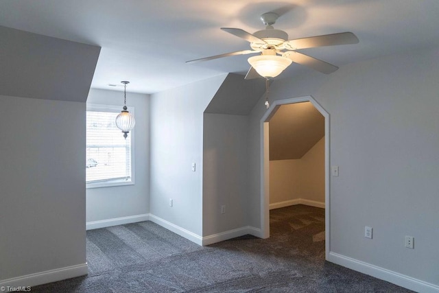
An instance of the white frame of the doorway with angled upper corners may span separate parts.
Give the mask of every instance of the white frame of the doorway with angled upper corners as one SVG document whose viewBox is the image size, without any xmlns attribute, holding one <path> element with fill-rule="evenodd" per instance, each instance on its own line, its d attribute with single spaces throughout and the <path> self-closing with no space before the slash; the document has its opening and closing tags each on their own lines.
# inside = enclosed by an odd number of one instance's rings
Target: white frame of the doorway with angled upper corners
<svg viewBox="0 0 439 293">
<path fill-rule="evenodd" d="M 295 104 L 300 102 L 311 102 L 314 107 L 324 117 L 324 235 L 325 235 L 325 256 L 329 255 L 329 235 L 331 225 L 329 215 L 331 212 L 331 201 L 329 196 L 329 113 L 318 102 L 307 95 L 305 97 L 293 97 L 290 99 L 278 99 L 270 105 L 261 119 L 261 235 L 263 238 L 270 237 L 270 152 L 269 152 L 269 133 L 268 120 L 276 113 L 276 110 L 285 104 Z"/>
</svg>

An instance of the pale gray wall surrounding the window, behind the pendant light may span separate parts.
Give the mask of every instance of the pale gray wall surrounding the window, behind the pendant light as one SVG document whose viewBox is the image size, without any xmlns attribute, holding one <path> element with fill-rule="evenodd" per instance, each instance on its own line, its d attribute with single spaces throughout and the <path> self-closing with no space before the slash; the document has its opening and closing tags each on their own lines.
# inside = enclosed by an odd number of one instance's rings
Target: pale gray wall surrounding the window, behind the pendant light
<svg viewBox="0 0 439 293">
<path fill-rule="evenodd" d="M 86 189 L 86 222 L 111 220 L 150 212 L 149 96 L 127 93 L 127 106 L 134 106 L 134 185 Z M 122 91 L 91 89 L 87 104 L 123 106 Z"/>
</svg>

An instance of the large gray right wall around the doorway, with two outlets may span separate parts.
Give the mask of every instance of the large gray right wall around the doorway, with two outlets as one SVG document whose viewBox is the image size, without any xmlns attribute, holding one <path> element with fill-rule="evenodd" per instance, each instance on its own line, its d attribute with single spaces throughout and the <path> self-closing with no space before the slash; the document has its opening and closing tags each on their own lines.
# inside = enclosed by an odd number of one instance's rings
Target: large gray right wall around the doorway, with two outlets
<svg viewBox="0 0 439 293">
<path fill-rule="evenodd" d="M 331 251 L 439 285 L 439 50 L 357 62 L 272 84 L 272 99 L 311 95 L 331 115 Z M 260 119 L 250 116 L 250 224 L 260 225 Z M 372 226 L 374 239 L 364 238 Z M 404 247 L 405 235 L 415 249 Z M 407 265 L 410 264 L 410 265 Z"/>
</svg>

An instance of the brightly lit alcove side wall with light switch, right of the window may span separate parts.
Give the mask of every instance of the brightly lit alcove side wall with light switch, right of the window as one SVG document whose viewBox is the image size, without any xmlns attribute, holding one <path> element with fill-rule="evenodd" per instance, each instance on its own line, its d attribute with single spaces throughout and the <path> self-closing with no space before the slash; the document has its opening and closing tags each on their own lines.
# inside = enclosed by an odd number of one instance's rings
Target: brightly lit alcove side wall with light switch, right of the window
<svg viewBox="0 0 439 293">
<path fill-rule="evenodd" d="M 203 112 L 224 78 L 219 75 L 155 93 L 150 101 L 150 213 L 198 236 L 202 235 Z"/>
</svg>

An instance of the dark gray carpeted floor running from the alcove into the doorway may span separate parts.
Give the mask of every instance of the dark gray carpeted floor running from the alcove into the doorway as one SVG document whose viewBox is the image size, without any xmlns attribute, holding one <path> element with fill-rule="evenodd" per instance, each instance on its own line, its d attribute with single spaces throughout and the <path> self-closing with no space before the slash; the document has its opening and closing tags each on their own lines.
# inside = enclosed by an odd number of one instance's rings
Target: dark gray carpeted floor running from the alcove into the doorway
<svg viewBox="0 0 439 293">
<path fill-rule="evenodd" d="M 324 261 L 324 209 L 274 209 L 270 228 L 206 247 L 152 222 L 87 231 L 88 276 L 32 292 L 411 292 Z"/>
</svg>

